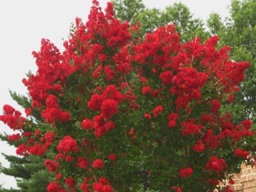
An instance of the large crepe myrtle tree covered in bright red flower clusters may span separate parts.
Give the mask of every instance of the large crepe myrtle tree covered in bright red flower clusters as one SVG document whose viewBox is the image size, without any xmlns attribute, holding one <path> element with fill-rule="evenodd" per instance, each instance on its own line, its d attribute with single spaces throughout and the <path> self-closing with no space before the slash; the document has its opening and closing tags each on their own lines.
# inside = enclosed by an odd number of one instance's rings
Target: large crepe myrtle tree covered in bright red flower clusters
<svg viewBox="0 0 256 192">
<path fill-rule="evenodd" d="M 59 49 L 42 39 L 38 67 L 23 83 L 27 116 L 3 106 L 0 120 L 22 140 L 20 156 L 44 157 L 56 176 L 47 191 L 209 191 L 244 160 L 253 164 L 250 120 L 234 124 L 222 104 L 249 67 L 216 49 L 218 37 L 180 42 L 175 26 L 141 39 L 113 4 L 98 1 Z M 229 186 L 224 188 L 230 191 Z"/>
</svg>

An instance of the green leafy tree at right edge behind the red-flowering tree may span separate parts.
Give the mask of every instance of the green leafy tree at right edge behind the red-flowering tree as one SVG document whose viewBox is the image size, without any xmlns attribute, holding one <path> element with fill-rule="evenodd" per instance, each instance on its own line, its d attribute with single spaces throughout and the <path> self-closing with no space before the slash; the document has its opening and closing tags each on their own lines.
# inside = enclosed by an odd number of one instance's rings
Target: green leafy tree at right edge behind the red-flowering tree
<svg viewBox="0 0 256 192">
<path fill-rule="evenodd" d="M 225 22 L 212 13 L 207 24 L 212 35 L 220 36 L 220 45 L 230 45 L 230 57 L 236 61 L 250 61 L 241 92 L 235 93 L 235 102 L 226 104 L 223 111 L 232 111 L 236 122 L 250 118 L 255 122 L 256 110 L 256 1 L 232 0 L 230 17 Z"/>
</svg>

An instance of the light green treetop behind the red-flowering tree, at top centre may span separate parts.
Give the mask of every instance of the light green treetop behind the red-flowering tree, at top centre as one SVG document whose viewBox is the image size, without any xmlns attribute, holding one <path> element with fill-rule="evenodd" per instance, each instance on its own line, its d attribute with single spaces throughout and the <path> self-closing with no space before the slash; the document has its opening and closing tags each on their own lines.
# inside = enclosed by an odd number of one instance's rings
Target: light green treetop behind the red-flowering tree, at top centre
<svg viewBox="0 0 256 192">
<path fill-rule="evenodd" d="M 138 0 L 113 0 L 112 2 L 118 19 L 127 20 L 130 24 L 141 24 L 141 37 L 159 26 L 174 24 L 183 42 L 192 40 L 195 36 L 199 36 L 203 41 L 209 38 L 209 33 L 204 29 L 204 22 L 195 19 L 185 4 L 174 3 L 172 6 L 166 6 L 164 10 L 159 10 L 147 8 L 142 1 Z"/>
</svg>

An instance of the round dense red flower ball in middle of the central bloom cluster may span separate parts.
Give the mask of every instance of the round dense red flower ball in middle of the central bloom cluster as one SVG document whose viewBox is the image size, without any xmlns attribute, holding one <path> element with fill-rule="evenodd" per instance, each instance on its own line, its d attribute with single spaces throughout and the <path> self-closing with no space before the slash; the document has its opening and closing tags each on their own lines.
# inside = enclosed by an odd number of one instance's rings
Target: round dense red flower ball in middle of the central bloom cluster
<svg viewBox="0 0 256 192">
<path fill-rule="evenodd" d="M 104 118 L 111 118 L 118 113 L 118 103 L 113 99 L 106 99 L 102 102 L 100 111 Z"/>
</svg>

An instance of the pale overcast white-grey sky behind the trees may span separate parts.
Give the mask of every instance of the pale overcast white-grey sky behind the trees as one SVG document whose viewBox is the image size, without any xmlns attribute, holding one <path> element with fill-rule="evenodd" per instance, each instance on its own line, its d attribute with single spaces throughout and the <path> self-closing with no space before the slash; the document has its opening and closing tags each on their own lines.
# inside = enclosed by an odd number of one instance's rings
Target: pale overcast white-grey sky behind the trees
<svg viewBox="0 0 256 192">
<path fill-rule="evenodd" d="M 228 16 L 227 6 L 231 0 L 183 0 L 195 17 L 206 20 L 211 12 Z M 100 0 L 104 8 L 107 0 Z M 164 8 L 173 0 L 144 0 L 149 8 Z M 68 28 L 76 17 L 86 21 L 92 6 L 91 0 L 1 0 L 0 1 L 0 108 L 11 104 L 20 109 L 11 99 L 8 90 L 26 94 L 26 88 L 21 79 L 26 72 L 36 71 L 32 51 L 40 49 L 41 38 L 49 38 L 62 49 L 62 38 L 67 39 Z M 21 109 L 20 109 L 21 110 Z M 23 112 L 23 111 L 22 111 Z M 1 113 L 1 109 L 0 109 Z M 0 122 L 0 132 L 9 129 Z M 15 148 L 8 147 L 0 141 L 0 152 L 15 154 Z M 0 162 L 8 166 L 8 162 L 0 155 Z M 4 187 L 16 187 L 12 177 L 0 175 L 0 184 Z"/>
</svg>

